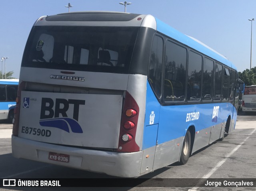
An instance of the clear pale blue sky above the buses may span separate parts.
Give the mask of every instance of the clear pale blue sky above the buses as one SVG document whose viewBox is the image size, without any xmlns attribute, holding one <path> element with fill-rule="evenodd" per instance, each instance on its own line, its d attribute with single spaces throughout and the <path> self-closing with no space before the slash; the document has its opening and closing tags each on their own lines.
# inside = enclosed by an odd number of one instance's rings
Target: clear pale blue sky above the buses
<svg viewBox="0 0 256 191">
<path fill-rule="evenodd" d="M 0 57 L 6 72 L 19 78 L 24 47 L 34 22 L 40 16 L 77 11 L 124 12 L 120 0 L 1 0 Z M 192 36 L 226 56 L 238 71 L 250 69 L 251 24 L 252 67 L 256 66 L 255 0 L 130 0 L 127 12 L 151 14 L 176 30 Z M 1 63 L 0 63 L 1 64 Z M 4 68 L 0 65 L 0 70 Z M 2 68 L 1 68 L 2 67 Z"/>
</svg>

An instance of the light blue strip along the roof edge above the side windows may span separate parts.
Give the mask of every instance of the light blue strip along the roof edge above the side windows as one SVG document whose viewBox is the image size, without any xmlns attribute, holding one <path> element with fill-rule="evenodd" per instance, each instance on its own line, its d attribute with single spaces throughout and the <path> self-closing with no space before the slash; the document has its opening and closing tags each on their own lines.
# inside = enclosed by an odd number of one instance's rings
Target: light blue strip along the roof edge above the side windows
<svg viewBox="0 0 256 191">
<path fill-rule="evenodd" d="M 185 44 L 188 45 L 189 47 L 196 49 L 197 51 L 213 58 L 216 59 L 217 61 L 227 65 L 228 67 L 231 67 L 235 70 L 237 70 L 237 68 L 230 62 L 228 61 L 228 59 L 225 59 L 224 57 L 218 55 L 217 53 L 215 53 L 214 51 L 208 49 L 207 47 L 201 45 L 200 43 L 198 43 L 197 41 L 194 41 L 193 39 L 191 39 L 190 37 L 184 35 L 183 33 L 179 32 L 178 30 L 172 28 L 171 26 L 165 24 L 164 22 L 162 22 L 161 20 L 158 20 L 156 18 L 156 27 L 157 27 L 157 31 L 164 33 L 165 35 Z"/>
</svg>

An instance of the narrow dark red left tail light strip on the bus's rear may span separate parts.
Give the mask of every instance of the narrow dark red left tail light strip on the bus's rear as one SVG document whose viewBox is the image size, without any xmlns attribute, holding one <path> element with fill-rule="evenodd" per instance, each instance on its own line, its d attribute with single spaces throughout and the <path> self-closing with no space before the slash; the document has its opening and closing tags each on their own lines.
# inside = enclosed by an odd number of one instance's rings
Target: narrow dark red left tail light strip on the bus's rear
<svg viewBox="0 0 256 191">
<path fill-rule="evenodd" d="M 19 122 L 20 122 L 20 103 L 21 103 L 21 91 L 25 89 L 25 82 L 21 82 L 18 87 L 18 95 L 16 98 L 16 108 L 14 109 L 14 124 L 12 128 L 12 134 L 18 136 L 19 132 Z"/>
</svg>

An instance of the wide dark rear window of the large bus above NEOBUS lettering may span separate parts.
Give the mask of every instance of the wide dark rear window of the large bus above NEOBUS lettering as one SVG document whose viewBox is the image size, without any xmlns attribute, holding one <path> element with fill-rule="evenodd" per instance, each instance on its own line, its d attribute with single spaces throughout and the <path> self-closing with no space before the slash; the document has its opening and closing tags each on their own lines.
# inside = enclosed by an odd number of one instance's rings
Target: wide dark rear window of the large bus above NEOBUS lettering
<svg viewBox="0 0 256 191">
<path fill-rule="evenodd" d="M 128 73 L 136 27 L 35 26 L 23 67 Z"/>
</svg>

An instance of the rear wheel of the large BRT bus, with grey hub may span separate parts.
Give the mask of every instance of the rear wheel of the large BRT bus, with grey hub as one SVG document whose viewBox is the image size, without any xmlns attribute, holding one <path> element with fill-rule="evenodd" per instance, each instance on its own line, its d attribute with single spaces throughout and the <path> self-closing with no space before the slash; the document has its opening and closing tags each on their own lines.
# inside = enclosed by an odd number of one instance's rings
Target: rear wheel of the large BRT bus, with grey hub
<svg viewBox="0 0 256 191">
<path fill-rule="evenodd" d="M 183 144 L 182 144 L 182 151 L 180 155 L 180 164 L 186 164 L 188 158 L 190 156 L 190 149 L 191 149 L 191 135 L 190 131 L 186 132 Z"/>
</svg>

